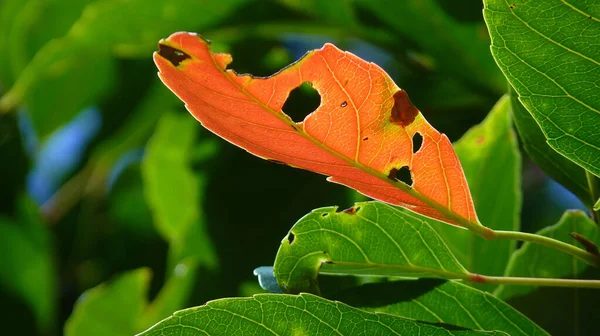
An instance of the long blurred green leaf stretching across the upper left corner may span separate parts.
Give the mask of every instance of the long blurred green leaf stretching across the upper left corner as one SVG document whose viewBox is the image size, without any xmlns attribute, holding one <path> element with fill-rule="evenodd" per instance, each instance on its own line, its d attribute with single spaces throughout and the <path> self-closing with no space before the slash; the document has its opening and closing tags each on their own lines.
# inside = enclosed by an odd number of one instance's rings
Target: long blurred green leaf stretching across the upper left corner
<svg viewBox="0 0 600 336">
<path fill-rule="evenodd" d="M 148 57 L 160 38 L 205 29 L 245 2 L 175 0 L 148 6 L 142 0 L 94 1 L 64 36 L 37 51 L 0 99 L 0 111 L 26 105 L 44 139 L 107 94 L 114 84 L 113 56 Z"/>
</svg>

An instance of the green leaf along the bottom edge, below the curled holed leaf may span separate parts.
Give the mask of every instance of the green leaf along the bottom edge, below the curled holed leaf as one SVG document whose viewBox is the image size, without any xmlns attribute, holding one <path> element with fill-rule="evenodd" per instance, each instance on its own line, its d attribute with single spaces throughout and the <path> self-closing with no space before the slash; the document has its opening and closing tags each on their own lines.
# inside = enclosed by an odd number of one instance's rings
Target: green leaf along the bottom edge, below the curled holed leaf
<svg viewBox="0 0 600 336">
<path fill-rule="evenodd" d="M 506 335 L 371 313 L 311 294 L 258 294 L 182 310 L 140 335 Z"/>
</svg>

